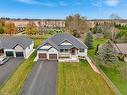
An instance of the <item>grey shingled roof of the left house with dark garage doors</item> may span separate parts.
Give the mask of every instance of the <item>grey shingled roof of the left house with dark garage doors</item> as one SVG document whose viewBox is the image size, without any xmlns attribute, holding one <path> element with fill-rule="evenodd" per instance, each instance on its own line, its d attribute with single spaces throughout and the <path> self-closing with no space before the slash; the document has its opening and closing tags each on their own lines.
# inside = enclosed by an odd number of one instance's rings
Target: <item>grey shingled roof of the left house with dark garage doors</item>
<svg viewBox="0 0 127 95">
<path fill-rule="evenodd" d="M 32 39 L 23 36 L 4 36 L 0 37 L 0 41 L 4 49 L 13 49 L 16 45 L 26 49 L 32 43 Z"/>
</svg>

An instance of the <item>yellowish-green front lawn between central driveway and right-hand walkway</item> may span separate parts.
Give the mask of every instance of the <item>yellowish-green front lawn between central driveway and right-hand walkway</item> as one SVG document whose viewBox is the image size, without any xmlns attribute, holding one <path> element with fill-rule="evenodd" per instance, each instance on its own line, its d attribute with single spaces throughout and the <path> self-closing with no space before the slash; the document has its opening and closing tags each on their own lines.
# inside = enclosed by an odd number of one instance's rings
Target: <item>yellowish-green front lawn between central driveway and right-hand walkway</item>
<svg viewBox="0 0 127 95">
<path fill-rule="evenodd" d="M 102 77 L 90 65 L 61 63 L 58 69 L 58 95 L 114 95 Z"/>
</svg>

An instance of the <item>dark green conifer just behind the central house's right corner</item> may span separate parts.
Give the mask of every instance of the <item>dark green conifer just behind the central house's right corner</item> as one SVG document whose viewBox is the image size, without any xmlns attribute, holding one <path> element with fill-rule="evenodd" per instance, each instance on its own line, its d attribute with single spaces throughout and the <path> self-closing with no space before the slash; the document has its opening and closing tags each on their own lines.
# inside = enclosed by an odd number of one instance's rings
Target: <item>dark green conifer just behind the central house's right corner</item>
<svg viewBox="0 0 127 95">
<path fill-rule="evenodd" d="M 86 44 L 86 46 L 89 49 L 92 49 L 93 48 L 93 34 L 91 32 L 88 32 L 86 34 L 86 39 L 85 39 L 84 43 Z"/>
</svg>

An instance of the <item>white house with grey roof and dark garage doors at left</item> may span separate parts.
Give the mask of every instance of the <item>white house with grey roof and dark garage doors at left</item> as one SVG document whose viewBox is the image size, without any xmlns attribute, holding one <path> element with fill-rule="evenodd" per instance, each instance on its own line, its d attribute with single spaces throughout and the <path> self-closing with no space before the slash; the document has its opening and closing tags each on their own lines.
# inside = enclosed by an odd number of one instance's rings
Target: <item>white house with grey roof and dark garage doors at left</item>
<svg viewBox="0 0 127 95">
<path fill-rule="evenodd" d="M 0 55 L 27 58 L 33 51 L 34 43 L 27 37 L 0 37 Z"/>
</svg>

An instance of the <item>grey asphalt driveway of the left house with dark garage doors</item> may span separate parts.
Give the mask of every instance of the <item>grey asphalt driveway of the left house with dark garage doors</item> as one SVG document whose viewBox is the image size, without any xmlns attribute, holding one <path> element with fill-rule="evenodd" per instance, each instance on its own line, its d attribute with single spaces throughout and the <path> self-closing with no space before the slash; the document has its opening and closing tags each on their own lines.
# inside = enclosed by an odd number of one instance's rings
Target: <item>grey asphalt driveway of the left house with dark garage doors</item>
<svg viewBox="0 0 127 95">
<path fill-rule="evenodd" d="M 0 85 L 16 70 L 23 59 L 11 58 L 4 65 L 0 65 Z"/>
</svg>

